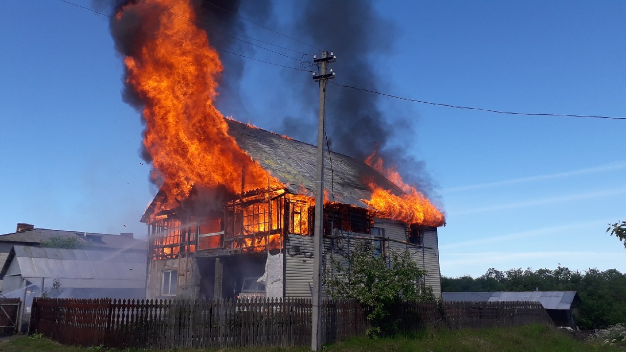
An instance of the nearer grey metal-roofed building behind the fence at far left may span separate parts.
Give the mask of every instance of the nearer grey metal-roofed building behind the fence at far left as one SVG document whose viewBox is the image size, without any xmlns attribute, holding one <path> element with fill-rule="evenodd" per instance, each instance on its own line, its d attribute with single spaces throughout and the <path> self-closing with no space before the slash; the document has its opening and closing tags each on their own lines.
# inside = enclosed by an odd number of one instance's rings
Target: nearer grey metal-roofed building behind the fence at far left
<svg viewBox="0 0 626 352">
<path fill-rule="evenodd" d="M 145 298 L 146 257 L 140 252 L 13 246 L 0 271 L 3 295 L 27 304 L 60 298 Z"/>
</svg>

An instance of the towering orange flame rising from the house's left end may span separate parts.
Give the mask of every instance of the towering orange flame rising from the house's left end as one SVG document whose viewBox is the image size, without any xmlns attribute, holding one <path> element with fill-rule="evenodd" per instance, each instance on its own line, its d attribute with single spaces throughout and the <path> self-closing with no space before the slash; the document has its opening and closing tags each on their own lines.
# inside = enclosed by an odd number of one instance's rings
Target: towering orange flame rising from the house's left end
<svg viewBox="0 0 626 352">
<path fill-rule="evenodd" d="M 129 3 L 115 21 L 126 15 L 141 19 L 139 47 L 124 60 L 127 83 L 145 106 L 143 145 L 168 202 L 185 199 L 194 185 L 225 185 L 233 193 L 267 188 L 269 174 L 228 135 L 213 105 L 223 67 L 207 34 L 193 23 L 189 1 Z"/>
</svg>

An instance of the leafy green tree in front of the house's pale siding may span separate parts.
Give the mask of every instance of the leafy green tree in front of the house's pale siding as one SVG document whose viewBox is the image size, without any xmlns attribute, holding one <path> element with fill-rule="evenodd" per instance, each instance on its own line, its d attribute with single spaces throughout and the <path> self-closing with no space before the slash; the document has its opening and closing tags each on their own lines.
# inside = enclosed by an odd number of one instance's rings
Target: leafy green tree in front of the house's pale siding
<svg viewBox="0 0 626 352">
<path fill-rule="evenodd" d="M 331 257 L 324 274 L 326 292 L 333 299 L 356 299 L 370 308 L 372 327 L 367 335 L 395 333 L 401 319 L 389 321 L 394 306 L 402 301 L 434 301 L 432 287 L 424 284 L 426 271 L 419 269 L 409 252 L 391 257 L 374 256 L 371 246 L 359 244 L 347 257 Z"/>
</svg>

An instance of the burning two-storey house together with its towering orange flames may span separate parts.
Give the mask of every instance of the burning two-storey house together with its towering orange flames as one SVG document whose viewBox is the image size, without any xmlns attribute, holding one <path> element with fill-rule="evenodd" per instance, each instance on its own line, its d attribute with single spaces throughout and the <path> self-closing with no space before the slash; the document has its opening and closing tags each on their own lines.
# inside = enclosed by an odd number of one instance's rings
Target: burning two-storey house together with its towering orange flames
<svg viewBox="0 0 626 352">
<path fill-rule="evenodd" d="M 217 10 L 202 1 L 126 0 L 111 16 L 123 97 L 141 111 L 142 155 L 159 189 L 141 218 L 146 296 L 310 297 L 315 147 L 217 110 L 224 68 L 212 46 L 219 41 L 207 33 L 220 21 L 207 23 L 215 17 L 206 11 Z M 409 251 L 439 294 L 436 227 L 444 215 L 376 154 L 327 159 L 326 260 L 358 241 L 377 256 Z"/>
</svg>

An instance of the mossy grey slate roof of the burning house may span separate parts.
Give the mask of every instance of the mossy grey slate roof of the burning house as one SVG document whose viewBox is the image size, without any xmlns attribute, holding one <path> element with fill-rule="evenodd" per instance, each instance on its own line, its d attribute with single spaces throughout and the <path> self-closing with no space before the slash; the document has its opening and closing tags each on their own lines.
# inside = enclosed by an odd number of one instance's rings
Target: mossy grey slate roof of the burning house
<svg viewBox="0 0 626 352">
<path fill-rule="evenodd" d="M 230 118 L 226 122 L 228 134 L 235 138 L 237 145 L 266 172 L 279 179 L 287 192 L 313 197 L 316 184 L 316 146 Z M 397 185 L 364 161 L 337 152 L 326 153 L 324 178 L 326 193 L 332 197 L 333 202 L 364 209 L 369 207 L 362 199 L 371 199 L 368 182 L 375 182 L 393 194 L 404 194 Z M 147 223 L 150 220 L 156 204 L 164 196 L 161 191 L 155 195 L 140 222 Z"/>
</svg>

